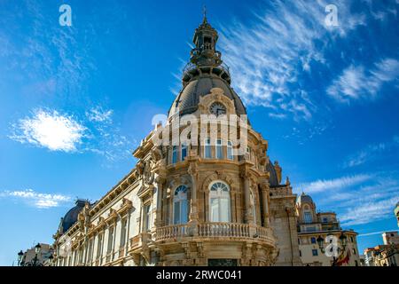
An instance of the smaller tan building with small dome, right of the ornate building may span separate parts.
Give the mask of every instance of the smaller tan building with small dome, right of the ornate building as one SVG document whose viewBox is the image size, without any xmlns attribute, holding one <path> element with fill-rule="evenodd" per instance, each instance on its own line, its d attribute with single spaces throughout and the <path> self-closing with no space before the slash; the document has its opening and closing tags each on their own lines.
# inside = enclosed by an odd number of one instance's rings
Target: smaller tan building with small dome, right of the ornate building
<svg viewBox="0 0 399 284">
<path fill-rule="evenodd" d="M 298 244 L 304 265 L 360 265 L 357 233 L 353 230 L 342 230 L 334 212 L 317 213 L 312 198 L 302 193 L 296 202 L 296 214 Z M 332 248 L 334 241 L 336 248 Z"/>
</svg>

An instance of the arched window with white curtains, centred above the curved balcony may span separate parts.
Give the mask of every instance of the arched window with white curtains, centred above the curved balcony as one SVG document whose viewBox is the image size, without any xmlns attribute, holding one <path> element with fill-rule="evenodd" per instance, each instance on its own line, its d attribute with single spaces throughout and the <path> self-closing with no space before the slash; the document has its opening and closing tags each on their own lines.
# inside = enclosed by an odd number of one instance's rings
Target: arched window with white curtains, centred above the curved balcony
<svg viewBox="0 0 399 284">
<path fill-rule="evenodd" d="M 215 181 L 209 189 L 210 222 L 231 222 L 229 185 Z"/>
</svg>

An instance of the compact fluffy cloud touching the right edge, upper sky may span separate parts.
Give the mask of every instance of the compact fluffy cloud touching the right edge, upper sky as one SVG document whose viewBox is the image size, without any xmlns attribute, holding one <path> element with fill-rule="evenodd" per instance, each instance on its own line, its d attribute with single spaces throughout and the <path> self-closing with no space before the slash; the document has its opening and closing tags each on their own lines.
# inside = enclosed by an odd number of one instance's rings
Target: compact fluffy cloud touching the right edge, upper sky
<svg viewBox="0 0 399 284">
<path fill-rule="evenodd" d="M 382 85 L 397 80 L 399 61 L 381 59 L 370 71 L 363 66 L 349 66 L 327 88 L 327 94 L 341 103 L 356 99 L 375 99 Z"/>
</svg>

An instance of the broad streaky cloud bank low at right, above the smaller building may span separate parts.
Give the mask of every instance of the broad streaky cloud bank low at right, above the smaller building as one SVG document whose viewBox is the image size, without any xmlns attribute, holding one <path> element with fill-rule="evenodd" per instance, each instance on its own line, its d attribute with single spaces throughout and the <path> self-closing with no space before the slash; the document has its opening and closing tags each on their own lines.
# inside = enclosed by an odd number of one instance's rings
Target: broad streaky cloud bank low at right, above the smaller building
<svg viewBox="0 0 399 284">
<path fill-rule="evenodd" d="M 398 173 L 377 172 L 308 183 L 319 209 L 333 209 L 343 226 L 387 219 L 399 201 Z M 300 187 L 301 188 L 301 187 Z"/>
</svg>

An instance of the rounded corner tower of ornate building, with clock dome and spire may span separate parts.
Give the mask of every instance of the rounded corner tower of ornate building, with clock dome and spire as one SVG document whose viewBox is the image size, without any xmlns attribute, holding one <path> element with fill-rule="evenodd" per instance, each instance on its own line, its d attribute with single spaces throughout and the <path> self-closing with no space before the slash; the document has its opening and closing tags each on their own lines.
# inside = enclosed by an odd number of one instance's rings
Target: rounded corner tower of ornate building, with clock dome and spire
<svg viewBox="0 0 399 284">
<path fill-rule="evenodd" d="M 157 181 L 154 234 L 155 245 L 162 248 L 160 264 L 297 264 L 295 196 L 289 182 L 280 185 L 281 168 L 270 162 L 268 142 L 249 123 L 233 126 L 237 129 L 226 138 L 231 128 L 219 123 L 222 117 L 229 122 L 246 119 L 246 108 L 231 88 L 217 40 L 217 31 L 204 16 L 168 124 L 154 130 L 134 153 L 143 175 L 154 175 L 150 184 Z M 215 129 L 204 126 L 204 115 L 216 122 Z M 239 153 L 231 140 L 241 143 L 243 128 L 246 147 Z M 159 136 L 169 144 L 155 143 Z M 143 200 L 151 193 L 148 188 L 144 185 L 137 193 Z M 291 243 L 285 244 L 287 240 Z M 138 253 L 143 250 L 137 248 Z"/>
</svg>

